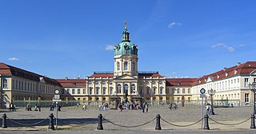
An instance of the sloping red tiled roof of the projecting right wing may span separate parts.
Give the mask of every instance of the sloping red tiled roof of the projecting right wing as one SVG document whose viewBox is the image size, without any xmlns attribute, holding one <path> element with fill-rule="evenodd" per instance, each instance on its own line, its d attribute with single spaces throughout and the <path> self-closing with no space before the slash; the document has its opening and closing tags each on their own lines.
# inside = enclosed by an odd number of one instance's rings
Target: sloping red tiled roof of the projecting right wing
<svg viewBox="0 0 256 134">
<path fill-rule="evenodd" d="M 213 78 L 213 81 L 223 79 L 226 77 L 232 77 L 235 75 L 241 75 L 241 74 L 250 74 L 252 71 L 256 69 L 256 61 L 247 61 L 246 63 L 243 63 L 241 65 L 234 65 L 227 69 L 222 69 L 218 72 L 211 73 L 209 75 L 199 77 L 196 81 L 194 81 L 193 85 L 201 85 L 206 83 L 207 79 L 209 77 Z M 236 73 L 235 73 L 236 71 Z"/>
</svg>

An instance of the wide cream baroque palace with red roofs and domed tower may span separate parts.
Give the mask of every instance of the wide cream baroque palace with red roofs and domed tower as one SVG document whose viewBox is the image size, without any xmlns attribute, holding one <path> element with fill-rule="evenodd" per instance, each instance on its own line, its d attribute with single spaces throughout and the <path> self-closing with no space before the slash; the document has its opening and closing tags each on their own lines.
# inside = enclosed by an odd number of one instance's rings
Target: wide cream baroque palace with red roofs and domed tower
<svg viewBox="0 0 256 134">
<path fill-rule="evenodd" d="M 200 103 L 200 89 L 214 89 L 214 104 L 246 106 L 254 102 L 250 83 L 256 81 L 256 61 L 238 63 L 199 78 L 167 78 L 158 71 L 138 71 L 138 45 L 130 41 L 130 33 L 122 32 L 122 41 L 114 46 L 114 71 L 94 72 L 84 79 L 52 79 L 0 63 L 1 106 L 14 101 L 51 101 L 54 90 L 61 90 L 62 101 L 80 103 L 121 103 L 148 101 L 152 104 Z"/>
</svg>

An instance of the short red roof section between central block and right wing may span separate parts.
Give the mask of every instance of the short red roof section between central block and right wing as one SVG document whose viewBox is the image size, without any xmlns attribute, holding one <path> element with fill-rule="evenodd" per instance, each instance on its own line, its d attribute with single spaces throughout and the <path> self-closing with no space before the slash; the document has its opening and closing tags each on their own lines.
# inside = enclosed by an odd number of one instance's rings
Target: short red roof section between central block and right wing
<svg viewBox="0 0 256 134">
<path fill-rule="evenodd" d="M 192 86 L 197 78 L 166 78 L 166 86 Z"/>
</svg>

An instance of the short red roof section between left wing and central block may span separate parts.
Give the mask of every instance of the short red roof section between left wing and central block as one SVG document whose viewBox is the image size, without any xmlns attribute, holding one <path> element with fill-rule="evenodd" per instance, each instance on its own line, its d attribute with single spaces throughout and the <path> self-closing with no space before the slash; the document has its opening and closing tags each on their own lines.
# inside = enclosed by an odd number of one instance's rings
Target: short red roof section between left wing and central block
<svg viewBox="0 0 256 134">
<path fill-rule="evenodd" d="M 55 79 L 62 87 L 86 87 L 86 79 Z"/>
</svg>

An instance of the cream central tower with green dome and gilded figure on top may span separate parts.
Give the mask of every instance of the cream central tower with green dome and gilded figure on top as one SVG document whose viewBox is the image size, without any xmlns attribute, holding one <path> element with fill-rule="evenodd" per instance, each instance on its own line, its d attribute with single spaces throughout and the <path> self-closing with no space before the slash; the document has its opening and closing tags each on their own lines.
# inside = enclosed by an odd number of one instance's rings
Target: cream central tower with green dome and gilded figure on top
<svg viewBox="0 0 256 134">
<path fill-rule="evenodd" d="M 130 42 L 130 33 L 122 32 L 122 42 L 114 46 L 114 77 L 124 74 L 138 77 L 138 46 Z"/>
</svg>

